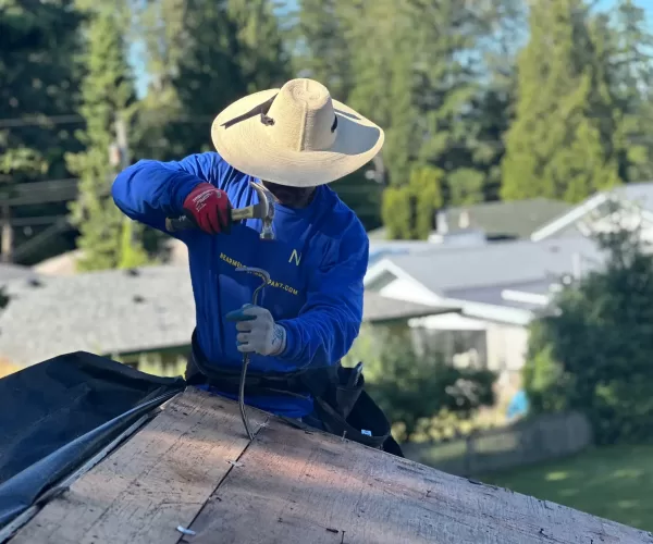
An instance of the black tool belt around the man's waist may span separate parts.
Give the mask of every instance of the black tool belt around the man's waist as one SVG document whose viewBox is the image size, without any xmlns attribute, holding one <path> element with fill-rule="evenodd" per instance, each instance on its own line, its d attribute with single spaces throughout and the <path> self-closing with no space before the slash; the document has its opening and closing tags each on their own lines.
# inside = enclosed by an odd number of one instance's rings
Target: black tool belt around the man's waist
<svg viewBox="0 0 653 544">
<path fill-rule="evenodd" d="M 355 385 L 347 385 L 353 371 L 340 361 L 330 367 L 293 373 L 263 374 L 248 370 L 245 394 L 301 398 L 310 395 L 315 412 L 328 432 L 403 457 L 401 447 L 391 435 L 387 418 L 364 388 L 365 376 L 360 374 Z M 237 395 L 241 369 L 217 369 L 209 364 L 197 342 L 197 333 L 193 332 L 186 382 L 189 385 L 208 384 L 220 392 Z"/>
</svg>

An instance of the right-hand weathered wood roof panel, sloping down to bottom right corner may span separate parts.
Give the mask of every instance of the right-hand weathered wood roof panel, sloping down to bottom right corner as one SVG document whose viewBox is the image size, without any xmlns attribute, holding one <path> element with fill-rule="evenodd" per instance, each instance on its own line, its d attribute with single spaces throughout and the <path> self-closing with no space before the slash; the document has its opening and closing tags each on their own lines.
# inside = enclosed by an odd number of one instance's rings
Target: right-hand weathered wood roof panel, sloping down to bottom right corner
<svg viewBox="0 0 653 544">
<path fill-rule="evenodd" d="M 653 542 L 636 529 L 275 419 L 241 462 L 194 521 L 193 544 Z"/>
</svg>

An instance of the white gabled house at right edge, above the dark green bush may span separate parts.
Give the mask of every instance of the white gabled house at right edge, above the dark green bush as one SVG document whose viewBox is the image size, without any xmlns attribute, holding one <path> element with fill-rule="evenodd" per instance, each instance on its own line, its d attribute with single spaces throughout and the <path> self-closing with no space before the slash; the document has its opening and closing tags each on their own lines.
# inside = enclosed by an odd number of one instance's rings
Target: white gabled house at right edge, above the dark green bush
<svg viewBox="0 0 653 544">
<path fill-rule="evenodd" d="M 591 231 L 605 228 L 611 224 L 607 217 L 609 199 L 616 199 L 620 203 L 621 224 L 636 224 L 641 220 L 643 236 L 653 242 L 653 182 L 633 183 L 596 193 L 552 221 L 543 223 L 530 238 L 540 242 L 566 236 L 587 236 Z"/>
</svg>

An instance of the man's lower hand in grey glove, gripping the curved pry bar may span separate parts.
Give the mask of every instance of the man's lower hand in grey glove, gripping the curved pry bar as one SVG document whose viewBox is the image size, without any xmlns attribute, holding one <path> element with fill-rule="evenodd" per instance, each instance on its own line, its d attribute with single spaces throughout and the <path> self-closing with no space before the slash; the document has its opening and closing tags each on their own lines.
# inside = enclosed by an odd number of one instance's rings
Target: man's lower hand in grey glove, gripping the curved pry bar
<svg viewBox="0 0 653 544">
<path fill-rule="evenodd" d="M 285 349 L 285 329 L 274 323 L 274 318 L 264 308 L 244 305 L 239 310 L 229 312 L 226 319 L 238 322 L 238 351 L 275 356 Z"/>
</svg>

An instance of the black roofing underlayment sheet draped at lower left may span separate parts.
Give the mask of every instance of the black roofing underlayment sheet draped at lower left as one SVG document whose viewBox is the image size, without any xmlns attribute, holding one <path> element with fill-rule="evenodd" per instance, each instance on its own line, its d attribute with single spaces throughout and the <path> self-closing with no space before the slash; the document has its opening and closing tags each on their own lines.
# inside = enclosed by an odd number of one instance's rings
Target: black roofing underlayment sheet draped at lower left
<svg viewBox="0 0 653 544">
<path fill-rule="evenodd" d="M 0 528 L 184 387 L 85 351 L 0 380 Z"/>
</svg>

